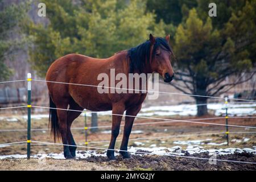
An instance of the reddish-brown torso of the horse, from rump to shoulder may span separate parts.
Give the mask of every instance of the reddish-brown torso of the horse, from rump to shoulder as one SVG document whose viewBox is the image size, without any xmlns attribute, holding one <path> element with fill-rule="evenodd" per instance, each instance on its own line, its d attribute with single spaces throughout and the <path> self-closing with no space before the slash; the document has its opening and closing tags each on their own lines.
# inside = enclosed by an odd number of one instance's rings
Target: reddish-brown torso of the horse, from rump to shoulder
<svg viewBox="0 0 256 182">
<path fill-rule="evenodd" d="M 108 59 L 95 59 L 78 54 L 60 57 L 49 67 L 46 80 L 72 84 L 47 82 L 53 102 L 63 102 L 63 98 L 72 98 L 82 108 L 103 111 L 111 110 L 113 102 L 121 100 L 126 102 L 129 98 L 135 97 L 133 94 L 99 93 L 97 90 L 97 85 L 102 81 L 98 80 L 100 74 L 103 73 L 112 79 L 110 70 L 113 68 L 116 74 L 128 74 L 129 64 L 126 61 L 126 56 L 127 52 L 121 51 Z M 118 81 L 115 80 L 115 82 Z M 136 96 L 138 95 L 136 94 Z M 135 101 L 138 101 L 137 97 L 135 97 Z"/>
</svg>

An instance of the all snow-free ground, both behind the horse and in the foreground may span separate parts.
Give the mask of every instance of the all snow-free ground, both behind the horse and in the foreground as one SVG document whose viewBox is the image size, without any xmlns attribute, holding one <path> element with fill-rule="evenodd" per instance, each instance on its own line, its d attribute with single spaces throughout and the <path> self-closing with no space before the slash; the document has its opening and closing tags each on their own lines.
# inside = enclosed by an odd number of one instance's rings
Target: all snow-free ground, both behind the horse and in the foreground
<svg viewBox="0 0 256 182">
<path fill-rule="evenodd" d="M 214 117 L 208 115 L 207 117 Z M 167 117 L 168 118 L 168 117 Z M 174 117 L 172 117 L 174 118 Z M 175 119 L 194 119 L 197 117 L 175 117 Z M 205 117 L 204 117 L 205 118 Z M 134 123 L 145 123 L 145 122 L 159 122 L 154 119 L 136 119 Z M 213 119 L 210 123 L 222 123 L 225 124 L 225 119 Z M 123 125 L 123 121 L 121 123 Z M 26 120 L 18 119 L 16 122 L 1 121 L 1 129 L 26 129 Z M 99 126 L 111 125 L 111 117 L 99 116 Z M 230 118 L 229 125 L 243 125 L 243 126 L 256 126 L 255 118 Z M 88 126 L 90 123 L 88 122 Z M 32 120 L 32 129 L 44 129 L 48 127 L 48 119 L 42 118 Z M 72 127 L 84 127 L 84 118 L 79 117 L 73 123 Z M 108 131 L 108 132 L 106 132 Z M 90 147 L 103 147 L 108 148 L 110 139 L 110 127 L 99 129 L 97 133 L 90 133 L 88 135 L 88 141 Z M 117 138 L 116 148 L 121 144 L 119 140 L 122 139 L 122 127 L 119 137 Z M 203 140 L 211 138 L 211 142 L 222 143 L 225 142 L 225 134 L 210 134 L 225 132 L 225 126 L 214 126 L 205 125 L 200 123 L 184 123 L 184 122 L 171 122 L 171 123 L 159 123 L 155 125 L 137 125 L 133 127 L 133 131 L 142 131 L 142 133 L 131 134 L 129 146 L 136 147 L 135 142 L 142 142 L 143 147 L 150 147 L 154 144 L 156 147 L 173 147 L 176 146 L 174 141 L 181 140 Z M 254 129 L 240 128 L 240 127 L 229 127 L 230 132 L 255 132 Z M 85 142 L 85 131 L 84 130 L 72 130 L 73 137 L 76 140 L 77 145 L 84 145 Z M 199 133 L 208 133 L 209 135 L 196 135 Z M 193 136 L 179 137 L 179 135 Z M 138 138 L 147 137 L 168 137 L 162 139 L 144 139 L 144 140 L 133 140 Z M 53 142 L 50 138 L 49 130 L 43 131 L 32 131 L 31 139 L 43 142 Z M 233 139 L 243 140 L 249 138 L 247 142 L 232 142 Z M 26 140 L 26 131 L 20 132 L 0 132 L 0 143 L 19 142 Z M 106 140 L 106 142 L 92 143 Z M 203 145 L 205 149 L 212 148 L 253 148 L 256 146 L 256 135 L 255 134 L 230 134 L 229 146 L 209 146 L 207 143 Z M 90 143 L 91 142 L 91 143 Z M 186 147 L 186 146 L 185 146 Z M 85 150 L 79 148 L 78 150 Z M 26 154 L 27 148 L 26 143 L 0 147 L 0 155 L 11 155 L 11 154 Z M 31 146 L 31 155 L 38 154 L 39 151 L 44 151 L 47 154 L 53 152 L 62 152 L 62 146 L 53 145 L 39 145 L 33 144 Z M 209 164 L 208 160 L 197 160 L 197 159 L 185 159 L 171 156 L 157 156 L 157 155 L 132 155 L 132 159 L 123 160 L 118 157 L 117 160 L 109 162 L 106 157 L 90 157 L 86 159 L 76 160 L 57 160 L 57 159 L 46 159 L 46 163 L 42 164 L 38 159 L 2 159 L 0 160 L 0 170 L 256 170 L 255 164 L 242 164 L 242 163 L 228 163 L 228 162 L 217 162 L 217 164 Z M 208 154 L 197 154 L 193 155 L 200 158 L 209 158 Z M 242 154 L 232 154 L 217 156 L 217 159 L 226 160 L 239 160 L 245 162 L 256 162 L 256 156 L 243 152 Z"/>
</svg>

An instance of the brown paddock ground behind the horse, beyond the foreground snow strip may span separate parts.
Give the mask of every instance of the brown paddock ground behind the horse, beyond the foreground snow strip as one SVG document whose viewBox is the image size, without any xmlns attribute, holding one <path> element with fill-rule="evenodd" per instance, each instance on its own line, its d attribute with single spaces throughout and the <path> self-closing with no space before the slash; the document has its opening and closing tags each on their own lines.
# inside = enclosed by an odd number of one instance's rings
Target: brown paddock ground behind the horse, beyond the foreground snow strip
<svg viewBox="0 0 256 182">
<path fill-rule="evenodd" d="M 214 117 L 212 115 L 208 115 L 208 117 Z M 175 119 L 194 119 L 196 117 L 179 117 Z M 88 119 L 89 120 L 89 119 Z M 159 120 L 154 119 L 136 119 L 135 124 L 146 123 L 146 122 L 159 122 Z M 210 122 L 210 123 L 225 123 L 225 119 L 212 119 L 209 121 L 202 122 Z M 98 126 L 111 126 L 111 117 L 109 116 L 100 116 L 98 121 Z M 123 121 L 121 123 L 123 125 Z M 243 126 L 256 126 L 255 118 L 230 118 L 229 125 L 243 125 Z M 88 123 L 90 126 L 90 123 Z M 26 129 L 27 123 L 26 120 L 19 119 L 17 122 L 7 122 L 1 121 L 0 128 L 1 129 Z M 84 118 L 79 117 L 73 123 L 72 127 L 84 127 Z M 32 129 L 44 129 L 48 128 L 48 119 L 42 118 L 38 120 L 32 120 Z M 110 130 L 111 128 L 103 128 L 99 129 L 97 133 L 90 133 L 88 131 L 88 142 L 90 147 L 102 147 L 107 148 L 110 140 Z M 107 132 L 106 132 L 107 131 Z M 122 139 L 122 131 L 123 127 L 121 127 L 120 134 L 117 138 L 116 148 L 118 148 L 121 144 Z M 151 144 L 155 144 L 156 147 L 173 147 L 176 146 L 173 142 L 176 140 L 203 140 L 207 138 L 212 138 L 211 142 L 222 143 L 226 142 L 225 134 L 211 134 L 211 133 L 225 133 L 225 126 L 214 126 L 214 125 L 205 125 L 200 123 L 184 123 L 184 122 L 169 122 L 169 123 L 159 123 L 155 125 L 135 125 L 133 127 L 133 131 L 142 131 L 142 133 L 132 133 L 130 136 L 129 146 L 136 147 L 137 144 L 135 142 L 143 142 L 143 147 L 150 147 Z M 240 127 L 229 127 L 230 132 L 255 132 L 255 129 L 249 128 L 240 128 Z M 72 130 L 73 137 L 75 138 L 76 144 L 84 146 L 85 142 L 85 131 L 81 130 Z M 207 135 L 197 135 L 199 133 L 207 134 Z M 188 137 L 179 137 L 180 135 L 194 135 Z M 209 134 L 209 135 L 208 135 Z M 144 139 L 144 140 L 134 140 L 138 138 L 148 138 L 148 137 L 168 137 L 170 138 L 160 138 L 160 139 Z M 26 141 L 27 132 L 0 132 L 0 143 L 10 143 L 10 142 L 20 142 Z M 232 142 L 233 139 L 249 138 L 250 140 L 247 142 Z M 43 131 L 32 131 L 31 139 L 40 141 L 40 142 L 52 142 L 53 139 L 50 137 L 49 130 Z M 208 146 L 205 144 L 205 148 L 226 148 L 226 147 L 253 147 L 256 146 L 256 135 L 255 134 L 232 134 L 229 135 L 230 145 L 229 146 Z M 100 143 L 93 143 L 105 141 Z M 59 141 L 60 142 L 60 141 Z M 62 146 L 52 146 L 52 145 L 42 145 L 32 143 L 31 154 L 38 154 L 39 151 L 49 152 L 62 152 Z M 81 148 L 80 148 L 81 150 Z M 84 150 L 84 149 L 82 149 Z M 0 147 L 0 155 L 11 155 L 11 154 L 26 154 L 27 148 L 26 143 L 8 146 L 8 147 Z"/>
</svg>

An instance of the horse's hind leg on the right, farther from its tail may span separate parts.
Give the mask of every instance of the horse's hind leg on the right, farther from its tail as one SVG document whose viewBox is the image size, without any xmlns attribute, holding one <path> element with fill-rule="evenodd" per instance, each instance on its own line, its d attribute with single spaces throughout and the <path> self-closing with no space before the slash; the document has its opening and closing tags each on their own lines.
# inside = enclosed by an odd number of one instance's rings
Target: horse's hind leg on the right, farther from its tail
<svg viewBox="0 0 256 182">
<path fill-rule="evenodd" d="M 80 111 L 71 111 L 71 110 L 80 110 Z M 68 144 L 72 145 L 69 146 L 69 151 L 71 152 L 71 155 L 73 156 L 73 158 L 75 158 L 76 156 L 76 148 L 74 147 L 76 146 L 76 142 L 73 138 L 73 135 L 71 133 L 71 125 L 73 123 L 73 121 L 79 117 L 79 115 L 82 112 L 82 107 L 80 107 L 78 104 L 76 104 L 76 102 L 72 99 L 71 102 L 69 102 L 69 110 L 68 110 L 68 116 L 67 116 L 67 122 L 68 122 Z"/>
</svg>

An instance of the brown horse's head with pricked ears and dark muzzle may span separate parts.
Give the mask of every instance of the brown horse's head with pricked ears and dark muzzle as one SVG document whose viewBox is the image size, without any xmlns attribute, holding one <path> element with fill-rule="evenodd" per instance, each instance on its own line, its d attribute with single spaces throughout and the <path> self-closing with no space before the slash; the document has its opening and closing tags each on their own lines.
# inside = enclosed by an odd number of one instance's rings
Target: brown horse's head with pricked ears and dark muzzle
<svg viewBox="0 0 256 182">
<path fill-rule="evenodd" d="M 174 70 L 172 69 L 171 59 L 173 56 L 172 49 L 168 42 L 170 35 L 166 38 L 154 38 L 150 34 L 150 67 L 152 72 L 158 72 L 164 82 L 170 82 L 174 78 Z"/>
</svg>

